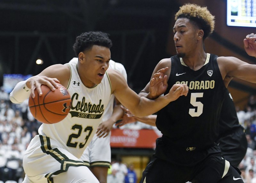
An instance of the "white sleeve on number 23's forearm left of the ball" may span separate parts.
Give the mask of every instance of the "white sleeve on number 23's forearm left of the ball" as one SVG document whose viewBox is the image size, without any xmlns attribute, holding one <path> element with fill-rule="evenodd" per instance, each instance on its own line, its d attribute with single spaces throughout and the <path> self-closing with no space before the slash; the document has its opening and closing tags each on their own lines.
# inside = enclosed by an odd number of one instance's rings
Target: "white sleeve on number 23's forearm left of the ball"
<svg viewBox="0 0 256 183">
<path fill-rule="evenodd" d="M 20 104 L 26 100 L 30 95 L 30 88 L 26 85 L 27 81 L 21 81 L 12 90 L 10 93 L 10 100 L 12 103 Z"/>
</svg>

